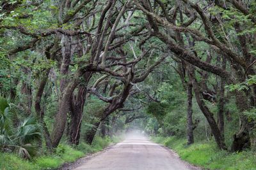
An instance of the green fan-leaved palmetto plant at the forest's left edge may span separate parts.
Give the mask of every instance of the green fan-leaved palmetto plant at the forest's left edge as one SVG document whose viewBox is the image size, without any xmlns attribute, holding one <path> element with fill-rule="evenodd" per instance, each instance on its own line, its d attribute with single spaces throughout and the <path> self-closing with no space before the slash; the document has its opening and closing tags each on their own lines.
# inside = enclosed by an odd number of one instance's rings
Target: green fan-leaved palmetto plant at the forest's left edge
<svg viewBox="0 0 256 170">
<path fill-rule="evenodd" d="M 0 96 L 0 151 L 17 152 L 21 157 L 31 159 L 38 152 L 36 142 L 42 139 L 42 127 L 32 116 L 19 123 L 13 106 Z"/>
</svg>

